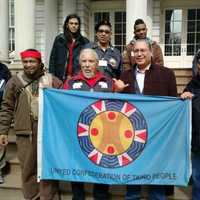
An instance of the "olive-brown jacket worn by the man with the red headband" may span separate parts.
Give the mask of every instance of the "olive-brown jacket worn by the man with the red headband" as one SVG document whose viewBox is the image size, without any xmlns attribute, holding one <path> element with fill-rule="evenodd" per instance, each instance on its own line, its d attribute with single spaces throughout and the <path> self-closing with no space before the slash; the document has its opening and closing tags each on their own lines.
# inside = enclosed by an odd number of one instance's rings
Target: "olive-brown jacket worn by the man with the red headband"
<svg viewBox="0 0 200 200">
<path fill-rule="evenodd" d="M 25 74 L 23 74 L 23 78 L 27 79 L 25 81 L 28 81 Z M 8 134 L 12 122 L 14 122 L 14 131 L 17 135 L 32 134 L 29 98 L 25 90 L 19 92 L 23 86 L 24 84 L 17 75 L 13 76 L 6 85 L 2 108 L 0 110 L 0 134 Z M 52 87 L 62 88 L 62 82 L 52 76 Z"/>
</svg>

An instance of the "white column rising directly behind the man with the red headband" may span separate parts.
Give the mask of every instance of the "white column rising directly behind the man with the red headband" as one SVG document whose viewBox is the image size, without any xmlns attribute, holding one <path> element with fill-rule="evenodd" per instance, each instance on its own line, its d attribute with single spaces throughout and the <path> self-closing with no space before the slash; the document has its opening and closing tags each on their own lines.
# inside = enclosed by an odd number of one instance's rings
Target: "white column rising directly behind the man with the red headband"
<svg viewBox="0 0 200 200">
<path fill-rule="evenodd" d="M 15 58 L 25 49 L 35 48 L 35 0 L 15 1 Z"/>
</svg>

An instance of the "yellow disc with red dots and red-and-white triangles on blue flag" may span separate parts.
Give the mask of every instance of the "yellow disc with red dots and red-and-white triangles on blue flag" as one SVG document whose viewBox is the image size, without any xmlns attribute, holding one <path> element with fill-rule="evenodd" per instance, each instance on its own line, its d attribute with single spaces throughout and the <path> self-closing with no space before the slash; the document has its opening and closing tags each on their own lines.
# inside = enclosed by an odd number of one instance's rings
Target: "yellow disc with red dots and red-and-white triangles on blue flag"
<svg viewBox="0 0 200 200">
<path fill-rule="evenodd" d="M 88 137 L 94 147 L 88 153 L 88 158 L 95 164 L 100 164 L 103 157 L 114 156 L 119 166 L 128 165 L 133 157 L 127 153 L 137 144 L 145 144 L 147 130 L 137 130 L 131 116 L 137 109 L 130 103 L 123 103 L 120 110 L 109 110 L 106 101 L 97 101 L 91 105 L 96 113 L 90 124 L 78 124 L 78 138 Z"/>
</svg>

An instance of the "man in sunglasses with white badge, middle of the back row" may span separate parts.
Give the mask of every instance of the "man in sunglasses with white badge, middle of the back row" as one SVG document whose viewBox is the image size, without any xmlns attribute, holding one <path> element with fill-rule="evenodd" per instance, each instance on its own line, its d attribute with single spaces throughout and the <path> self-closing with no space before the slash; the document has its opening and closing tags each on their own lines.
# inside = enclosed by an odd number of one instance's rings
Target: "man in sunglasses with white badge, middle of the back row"
<svg viewBox="0 0 200 200">
<path fill-rule="evenodd" d="M 96 42 L 88 43 L 85 48 L 92 48 L 99 57 L 99 70 L 110 78 L 119 78 L 122 71 L 120 51 L 113 47 L 110 40 L 112 26 L 103 20 L 95 26 Z"/>
</svg>

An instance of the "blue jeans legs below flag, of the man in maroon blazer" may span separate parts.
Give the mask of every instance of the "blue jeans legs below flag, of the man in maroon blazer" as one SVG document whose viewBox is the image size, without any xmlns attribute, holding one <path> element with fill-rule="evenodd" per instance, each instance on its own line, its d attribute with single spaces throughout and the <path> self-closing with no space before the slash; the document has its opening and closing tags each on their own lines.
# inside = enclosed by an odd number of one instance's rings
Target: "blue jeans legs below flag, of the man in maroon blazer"
<svg viewBox="0 0 200 200">
<path fill-rule="evenodd" d="M 127 185 L 125 200 L 140 200 L 141 198 L 141 185 Z M 165 187 L 162 185 L 150 185 L 149 199 L 165 200 Z"/>
</svg>

